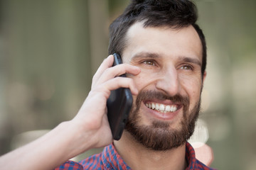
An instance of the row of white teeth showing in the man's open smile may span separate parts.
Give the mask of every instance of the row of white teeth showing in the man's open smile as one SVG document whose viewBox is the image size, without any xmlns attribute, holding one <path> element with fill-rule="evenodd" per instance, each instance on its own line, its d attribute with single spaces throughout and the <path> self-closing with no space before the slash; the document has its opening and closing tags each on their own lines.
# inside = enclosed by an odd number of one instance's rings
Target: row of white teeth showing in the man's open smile
<svg viewBox="0 0 256 170">
<path fill-rule="evenodd" d="M 161 113 L 173 113 L 178 110 L 178 105 L 164 105 L 161 103 L 146 102 L 145 106 Z"/>
</svg>

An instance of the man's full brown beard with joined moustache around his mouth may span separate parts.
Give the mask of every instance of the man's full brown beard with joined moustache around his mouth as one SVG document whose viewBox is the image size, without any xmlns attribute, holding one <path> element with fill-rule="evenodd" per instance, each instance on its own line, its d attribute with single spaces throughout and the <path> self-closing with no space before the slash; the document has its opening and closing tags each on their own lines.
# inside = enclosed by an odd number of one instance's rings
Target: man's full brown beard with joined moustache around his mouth
<svg viewBox="0 0 256 170">
<path fill-rule="evenodd" d="M 174 103 L 181 103 L 183 106 L 183 117 L 180 123 L 181 128 L 179 130 L 170 129 L 170 123 L 165 120 L 153 120 L 151 125 L 140 125 L 142 117 L 139 113 L 139 108 L 142 101 L 149 98 L 157 98 L 160 100 L 167 99 Z M 198 100 L 196 106 L 188 113 L 188 96 L 176 95 L 170 97 L 159 91 L 141 91 L 129 114 L 125 130 L 127 130 L 137 142 L 148 149 L 157 151 L 174 149 L 183 145 L 193 134 L 201 108 L 200 105 L 201 99 Z"/>
</svg>

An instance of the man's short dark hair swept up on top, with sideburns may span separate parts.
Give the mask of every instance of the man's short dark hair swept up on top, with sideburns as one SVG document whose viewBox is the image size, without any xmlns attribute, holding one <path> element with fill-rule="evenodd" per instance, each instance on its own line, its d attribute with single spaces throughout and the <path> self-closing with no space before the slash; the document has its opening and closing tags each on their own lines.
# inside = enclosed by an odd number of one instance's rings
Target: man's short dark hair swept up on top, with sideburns
<svg viewBox="0 0 256 170">
<path fill-rule="evenodd" d="M 136 22 L 143 21 L 145 28 L 169 26 L 178 29 L 193 26 L 203 47 L 203 74 L 206 70 L 206 40 L 196 24 L 197 19 L 196 5 L 189 0 L 132 0 L 124 13 L 110 25 L 109 54 L 117 52 L 122 55 L 127 45 L 127 30 Z"/>
</svg>

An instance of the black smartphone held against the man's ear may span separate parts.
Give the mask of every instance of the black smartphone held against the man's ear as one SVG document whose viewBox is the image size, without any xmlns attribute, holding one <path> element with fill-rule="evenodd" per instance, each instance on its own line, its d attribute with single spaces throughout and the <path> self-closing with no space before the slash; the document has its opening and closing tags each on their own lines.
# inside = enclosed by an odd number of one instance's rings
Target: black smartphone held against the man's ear
<svg viewBox="0 0 256 170">
<path fill-rule="evenodd" d="M 114 53 L 114 64 L 122 64 L 121 57 Z M 126 77 L 122 74 L 120 77 Z M 119 88 L 111 91 L 110 98 L 107 99 L 107 118 L 114 140 L 119 140 L 124 131 L 129 112 L 132 108 L 132 93 L 128 88 Z"/>
</svg>

